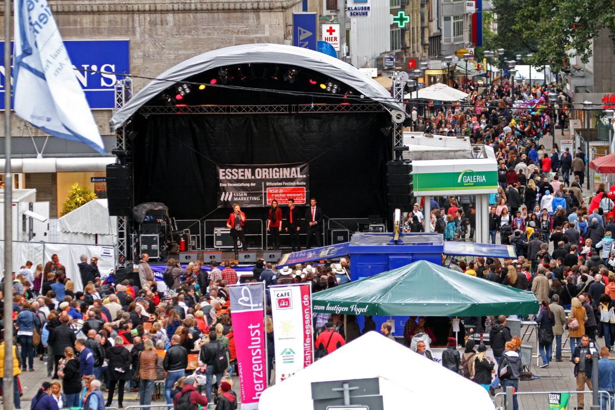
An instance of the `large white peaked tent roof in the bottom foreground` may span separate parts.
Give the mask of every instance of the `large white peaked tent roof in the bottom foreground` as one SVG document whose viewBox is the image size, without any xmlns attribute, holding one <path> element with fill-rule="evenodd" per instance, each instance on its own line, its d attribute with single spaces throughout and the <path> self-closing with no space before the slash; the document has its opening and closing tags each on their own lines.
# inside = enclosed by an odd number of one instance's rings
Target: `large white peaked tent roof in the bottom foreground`
<svg viewBox="0 0 615 410">
<path fill-rule="evenodd" d="M 366 352 L 375 356 L 368 361 L 357 360 Z M 380 378 L 384 410 L 398 410 L 408 403 L 418 409 L 493 410 L 483 387 L 376 332 L 355 339 L 268 388 L 258 407 L 287 410 L 290 405 L 293 410 L 313 410 L 312 382 L 372 377 Z M 462 397 L 472 399 L 459 400 Z"/>
</svg>

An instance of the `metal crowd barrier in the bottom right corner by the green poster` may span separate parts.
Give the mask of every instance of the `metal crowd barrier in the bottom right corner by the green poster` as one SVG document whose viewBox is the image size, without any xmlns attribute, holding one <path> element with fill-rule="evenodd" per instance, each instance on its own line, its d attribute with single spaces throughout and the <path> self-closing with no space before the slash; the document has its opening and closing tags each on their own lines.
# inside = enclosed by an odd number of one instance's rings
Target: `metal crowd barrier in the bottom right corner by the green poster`
<svg viewBox="0 0 615 410">
<path fill-rule="evenodd" d="M 568 406 L 567 409 L 575 409 L 578 404 L 579 395 L 583 396 L 585 408 L 589 409 L 590 405 L 593 402 L 592 399 L 592 391 L 584 390 L 584 391 L 572 391 L 572 392 L 515 392 L 514 395 L 517 396 L 517 401 L 519 404 L 519 410 L 544 410 L 549 409 L 549 395 L 554 394 L 568 394 Z M 598 400 L 600 406 L 603 400 L 607 400 L 608 403 L 611 402 L 611 395 L 604 391 L 598 391 Z M 496 409 L 504 409 L 504 410 L 512 410 L 507 409 L 506 406 L 506 393 L 501 392 L 497 393 L 493 398 L 493 404 Z M 608 408 L 608 406 L 607 406 Z M 610 410 L 614 410 L 611 408 Z"/>
</svg>

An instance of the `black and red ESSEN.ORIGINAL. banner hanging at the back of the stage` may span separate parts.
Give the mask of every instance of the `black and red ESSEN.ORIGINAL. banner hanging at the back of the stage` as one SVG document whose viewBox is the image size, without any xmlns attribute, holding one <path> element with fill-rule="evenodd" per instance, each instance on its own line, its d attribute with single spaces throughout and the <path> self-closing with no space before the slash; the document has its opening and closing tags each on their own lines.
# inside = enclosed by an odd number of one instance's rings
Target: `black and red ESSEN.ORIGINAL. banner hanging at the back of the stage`
<svg viewBox="0 0 615 410">
<path fill-rule="evenodd" d="M 218 207 L 267 207 L 273 200 L 296 205 L 309 203 L 309 165 L 216 165 Z"/>
</svg>

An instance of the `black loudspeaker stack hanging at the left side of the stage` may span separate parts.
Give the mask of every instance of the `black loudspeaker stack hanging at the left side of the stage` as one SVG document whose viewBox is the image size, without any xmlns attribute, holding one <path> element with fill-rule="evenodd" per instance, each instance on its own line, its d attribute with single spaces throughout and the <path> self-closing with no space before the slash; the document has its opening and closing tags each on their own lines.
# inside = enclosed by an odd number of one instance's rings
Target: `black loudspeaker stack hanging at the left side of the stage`
<svg viewBox="0 0 615 410">
<path fill-rule="evenodd" d="M 107 202 L 109 215 L 132 215 L 132 168 L 127 165 L 107 165 Z"/>
</svg>

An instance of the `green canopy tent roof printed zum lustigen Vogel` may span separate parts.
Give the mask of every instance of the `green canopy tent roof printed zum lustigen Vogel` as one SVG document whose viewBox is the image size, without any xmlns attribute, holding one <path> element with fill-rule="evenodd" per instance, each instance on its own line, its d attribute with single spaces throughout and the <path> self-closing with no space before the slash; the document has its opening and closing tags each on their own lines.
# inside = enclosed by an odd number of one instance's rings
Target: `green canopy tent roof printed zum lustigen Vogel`
<svg viewBox="0 0 615 410">
<path fill-rule="evenodd" d="M 538 312 L 534 293 L 418 261 L 314 293 L 312 310 L 376 316 L 491 316 Z"/>
</svg>

